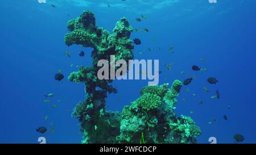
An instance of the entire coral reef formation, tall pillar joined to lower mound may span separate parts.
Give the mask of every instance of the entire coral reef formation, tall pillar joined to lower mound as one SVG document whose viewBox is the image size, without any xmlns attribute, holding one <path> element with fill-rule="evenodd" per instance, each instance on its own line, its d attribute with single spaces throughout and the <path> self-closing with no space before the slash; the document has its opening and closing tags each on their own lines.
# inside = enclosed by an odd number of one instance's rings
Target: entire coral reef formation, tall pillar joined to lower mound
<svg viewBox="0 0 256 155">
<path fill-rule="evenodd" d="M 78 18 L 69 20 L 68 30 L 66 45 L 93 48 L 92 66 L 81 66 L 68 77 L 71 82 L 85 85 L 85 101 L 79 102 L 72 112 L 84 133 L 82 143 L 196 143 L 200 128 L 191 118 L 174 113 L 182 86 L 178 80 L 172 83 L 171 89 L 168 83 L 144 87 L 141 97 L 122 112 L 105 110 L 107 94 L 117 93 L 117 89 L 111 85 L 112 80 L 97 78 L 100 69 L 97 62 L 101 59 L 110 62 L 110 55 L 126 62 L 134 58 L 134 46 L 129 39 L 133 28 L 126 18 L 120 19 L 110 34 L 96 26 L 93 12 L 84 11 Z"/>
</svg>

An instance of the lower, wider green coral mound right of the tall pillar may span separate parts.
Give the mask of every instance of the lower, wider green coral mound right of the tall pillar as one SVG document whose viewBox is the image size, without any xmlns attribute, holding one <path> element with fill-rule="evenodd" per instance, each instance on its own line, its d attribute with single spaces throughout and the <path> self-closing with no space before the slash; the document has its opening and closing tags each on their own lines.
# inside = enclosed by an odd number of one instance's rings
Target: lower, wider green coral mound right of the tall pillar
<svg viewBox="0 0 256 155">
<path fill-rule="evenodd" d="M 142 97 L 123 109 L 119 143 L 138 143 L 141 132 L 145 143 L 196 143 L 200 128 L 190 117 L 177 117 L 174 113 L 175 98 L 179 95 L 177 87 L 181 88 L 182 83 L 176 80 L 171 89 L 167 86 L 168 83 L 144 87 Z"/>
</svg>

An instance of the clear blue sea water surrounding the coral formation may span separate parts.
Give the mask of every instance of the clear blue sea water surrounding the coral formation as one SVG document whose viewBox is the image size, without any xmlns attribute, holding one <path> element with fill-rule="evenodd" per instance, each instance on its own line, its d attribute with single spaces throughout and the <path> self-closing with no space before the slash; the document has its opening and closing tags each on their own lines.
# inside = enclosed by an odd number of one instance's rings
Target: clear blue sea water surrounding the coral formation
<svg viewBox="0 0 256 155">
<path fill-rule="evenodd" d="M 67 77 L 77 70 L 76 64 L 91 65 L 92 49 L 66 47 L 64 35 L 68 20 L 83 10 L 93 11 L 97 26 L 110 32 L 123 16 L 134 28 L 148 28 L 147 33 L 132 33 L 131 39 L 142 40 L 135 46 L 134 55 L 139 60 L 159 59 L 160 84 L 183 81 L 187 73 L 197 77 L 181 90 L 176 113 L 191 116 L 199 125 L 199 143 L 209 143 L 212 136 L 217 143 L 234 143 L 235 133 L 245 137 L 243 143 L 256 143 L 255 0 L 217 0 L 215 4 L 208 0 L 46 1 L 0 1 L 0 143 L 38 143 L 40 136 L 46 137 L 47 143 L 81 142 L 79 122 L 71 118 L 71 112 L 84 100 L 84 86 L 69 82 Z M 147 19 L 137 22 L 135 18 L 142 14 Z M 173 54 L 168 52 L 171 46 Z M 148 52 L 148 47 L 155 50 Z M 66 50 L 71 51 L 70 58 L 63 54 Z M 81 50 L 85 57 L 79 57 Z M 203 57 L 207 61 L 200 61 Z M 168 71 L 163 63 L 171 62 Z M 193 72 L 192 65 L 208 72 Z M 62 82 L 54 79 L 59 68 L 65 76 Z M 183 70 L 185 73 L 180 74 Z M 219 82 L 210 85 L 208 77 Z M 108 95 L 108 109 L 121 111 L 146 85 L 142 80 L 114 81 L 118 94 Z M 217 89 L 220 99 L 211 99 Z M 47 93 L 55 94 L 49 103 L 43 102 Z M 53 104 L 57 107 L 52 108 Z M 224 114 L 228 120 L 222 118 Z M 213 119 L 217 122 L 209 124 Z M 41 126 L 53 127 L 54 131 L 42 135 L 36 132 Z"/>
</svg>

